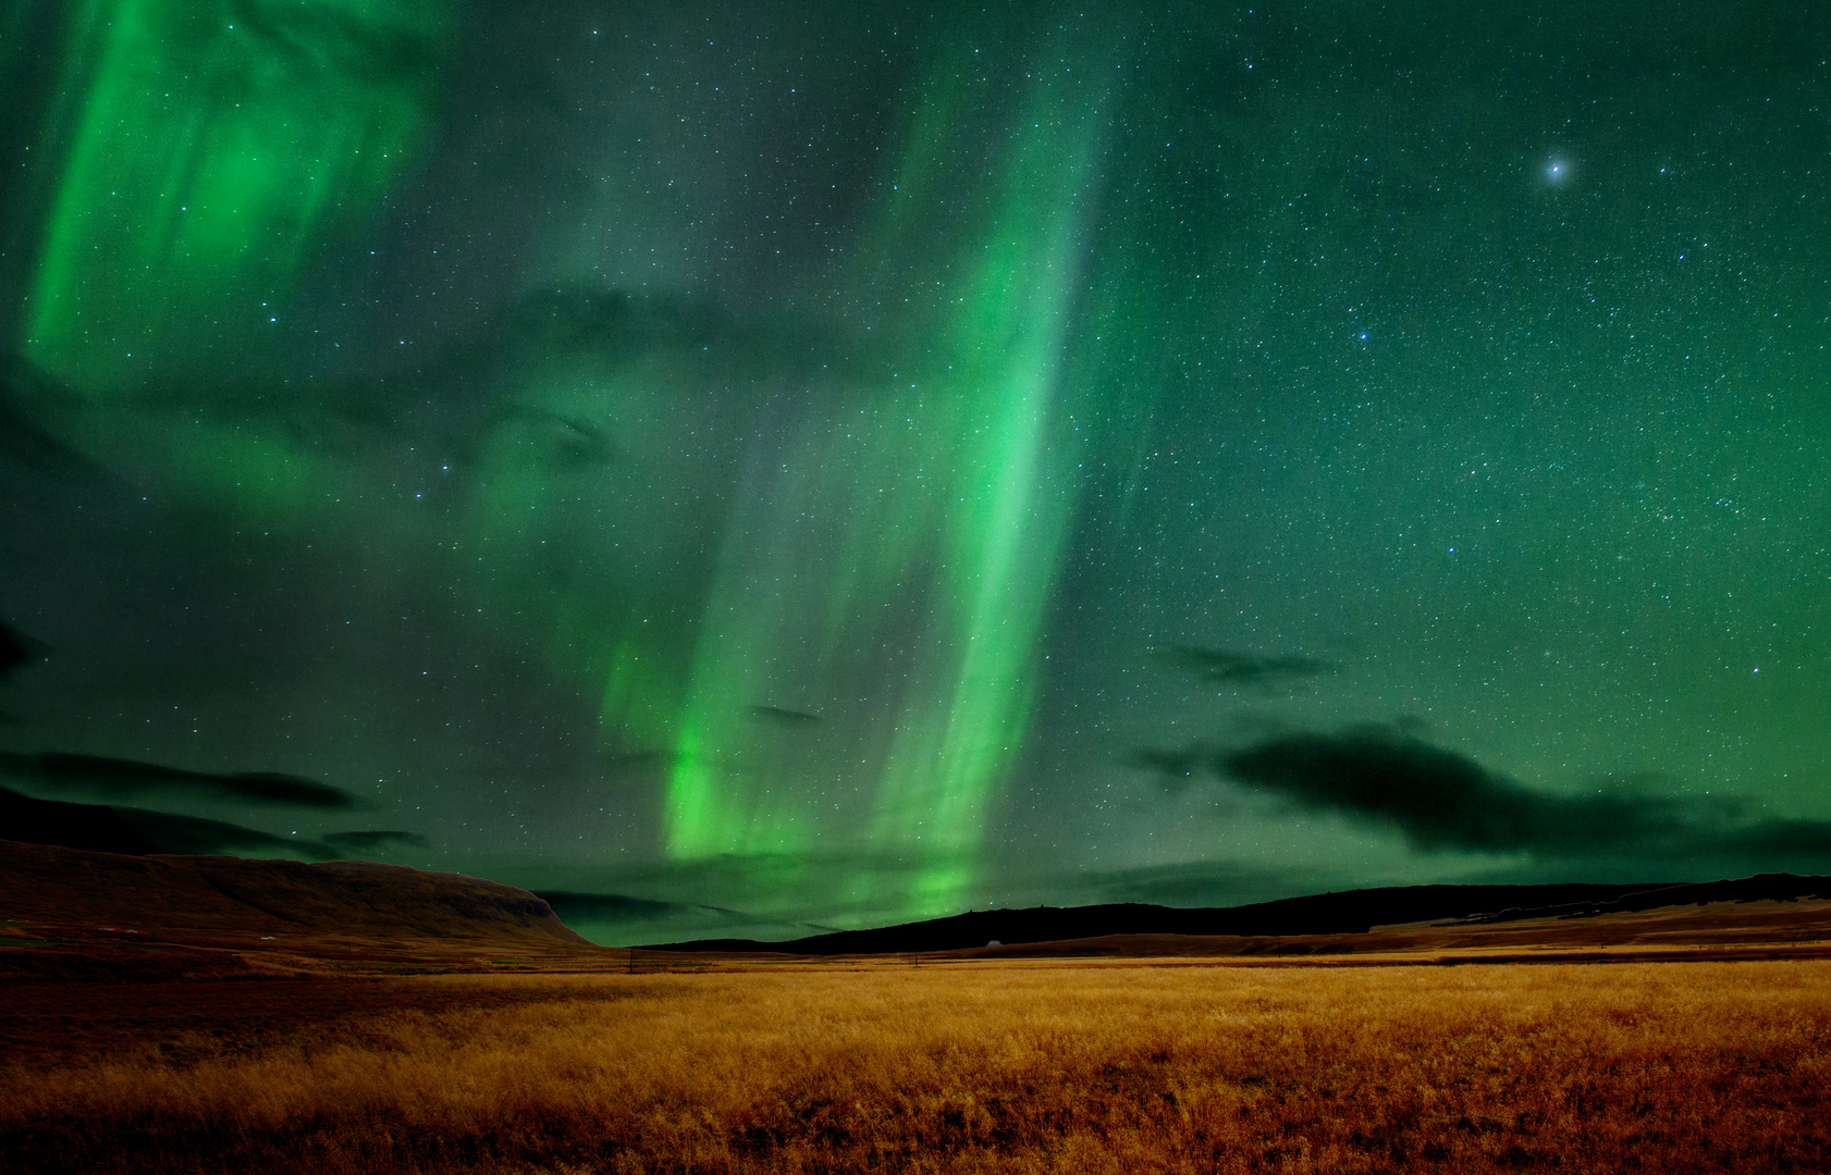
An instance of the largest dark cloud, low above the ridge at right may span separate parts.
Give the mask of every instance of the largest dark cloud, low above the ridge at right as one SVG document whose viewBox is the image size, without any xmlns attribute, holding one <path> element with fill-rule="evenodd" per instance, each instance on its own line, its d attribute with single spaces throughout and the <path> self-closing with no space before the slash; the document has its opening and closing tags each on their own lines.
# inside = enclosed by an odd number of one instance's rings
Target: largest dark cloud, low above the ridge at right
<svg viewBox="0 0 1831 1175">
<path fill-rule="evenodd" d="M 1811 860 L 1831 857 L 1831 822 L 1743 820 L 1716 800 L 1613 783 L 1549 794 L 1392 727 L 1284 734 L 1243 749 L 1144 752 L 1174 780 L 1214 774 L 1300 807 L 1384 824 L 1425 851 Z"/>
</svg>

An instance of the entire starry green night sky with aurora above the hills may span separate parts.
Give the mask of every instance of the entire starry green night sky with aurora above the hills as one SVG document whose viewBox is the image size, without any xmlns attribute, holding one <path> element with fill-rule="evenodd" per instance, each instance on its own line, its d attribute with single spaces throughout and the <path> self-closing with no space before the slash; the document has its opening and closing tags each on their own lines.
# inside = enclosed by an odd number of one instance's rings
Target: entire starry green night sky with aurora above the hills
<svg viewBox="0 0 1831 1175">
<path fill-rule="evenodd" d="M 606 943 L 1831 871 L 1827 60 L 9 4 L 0 785 Z"/>
</svg>

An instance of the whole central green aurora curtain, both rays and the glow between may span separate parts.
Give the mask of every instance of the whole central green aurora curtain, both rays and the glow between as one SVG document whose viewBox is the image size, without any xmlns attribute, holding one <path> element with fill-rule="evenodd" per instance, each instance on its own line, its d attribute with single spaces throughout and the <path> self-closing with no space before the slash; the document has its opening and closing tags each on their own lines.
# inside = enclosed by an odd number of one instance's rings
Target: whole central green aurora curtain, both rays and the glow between
<svg viewBox="0 0 1831 1175">
<path fill-rule="evenodd" d="M 840 395 L 740 489 L 668 778 L 674 858 L 892 858 L 853 897 L 910 917 L 974 880 L 1073 511 L 1060 368 L 1104 104 L 1051 64 L 1005 108 L 958 70 L 925 90 L 872 275 L 910 302 L 884 324 L 888 386 Z M 963 146 L 987 121 L 991 181 Z M 785 712 L 809 721 L 760 717 Z"/>
</svg>

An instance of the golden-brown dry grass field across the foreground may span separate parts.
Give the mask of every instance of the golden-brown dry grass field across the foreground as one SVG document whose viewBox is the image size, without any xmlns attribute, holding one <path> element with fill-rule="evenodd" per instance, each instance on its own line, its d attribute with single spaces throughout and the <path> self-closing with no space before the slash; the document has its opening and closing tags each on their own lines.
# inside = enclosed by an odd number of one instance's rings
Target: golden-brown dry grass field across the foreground
<svg viewBox="0 0 1831 1175">
<path fill-rule="evenodd" d="M 15 985 L 13 1171 L 1826 1171 L 1831 963 Z"/>
</svg>

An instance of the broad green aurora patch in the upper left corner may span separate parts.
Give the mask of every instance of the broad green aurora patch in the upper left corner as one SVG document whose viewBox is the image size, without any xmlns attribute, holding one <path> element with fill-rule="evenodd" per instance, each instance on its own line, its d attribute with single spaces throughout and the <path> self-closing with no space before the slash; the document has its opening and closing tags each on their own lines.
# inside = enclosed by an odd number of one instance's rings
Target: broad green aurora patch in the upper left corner
<svg viewBox="0 0 1831 1175">
<path fill-rule="evenodd" d="M 443 0 L 88 0 L 27 357 L 104 393 L 245 351 L 416 156 L 447 24 Z"/>
</svg>

